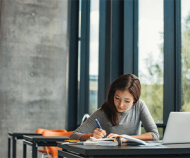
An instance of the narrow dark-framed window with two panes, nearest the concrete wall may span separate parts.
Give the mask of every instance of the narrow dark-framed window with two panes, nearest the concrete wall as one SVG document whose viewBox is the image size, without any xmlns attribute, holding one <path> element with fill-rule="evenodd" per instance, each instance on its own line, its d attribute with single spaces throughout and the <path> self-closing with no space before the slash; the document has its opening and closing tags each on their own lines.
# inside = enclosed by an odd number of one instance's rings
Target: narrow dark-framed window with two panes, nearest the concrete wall
<svg viewBox="0 0 190 158">
<path fill-rule="evenodd" d="M 77 125 L 98 107 L 99 1 L 79 0 Z"/>
</svg>

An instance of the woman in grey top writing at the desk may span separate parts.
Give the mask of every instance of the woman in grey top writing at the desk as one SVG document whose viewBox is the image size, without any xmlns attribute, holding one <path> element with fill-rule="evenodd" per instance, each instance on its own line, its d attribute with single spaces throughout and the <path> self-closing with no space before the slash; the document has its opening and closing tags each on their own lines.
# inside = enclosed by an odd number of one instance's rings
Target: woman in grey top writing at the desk
<svg viewBox="0 0 190 158">
<path fill-rule="evenodd" d="M 105 103 L 73 132 L 70 139 L 84 141 L 90 137 L 99 139 L 127 134 L 141 140 L 158 140 L 157 126 L 146 104 L 139 99 L 140 94 L 140 81 L 135 75 L 120 76 L 110 85 Z M 98 127 L 95 119 L 99 121 L 102 129 Z M 140 134 L 141 122 L 145 134 Z"/>
</svg>

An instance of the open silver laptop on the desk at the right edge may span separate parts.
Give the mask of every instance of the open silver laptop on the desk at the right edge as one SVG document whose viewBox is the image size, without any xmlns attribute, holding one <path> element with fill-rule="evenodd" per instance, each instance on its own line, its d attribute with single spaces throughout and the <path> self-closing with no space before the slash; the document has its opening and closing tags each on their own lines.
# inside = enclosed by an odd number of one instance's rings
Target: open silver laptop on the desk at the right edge
<svg viewBox="0 0 190 158">
<path fill-rule="evenodd" d="M 162 144 L 190 143 L 190 112 L 170 112 Z"/>
</svg>

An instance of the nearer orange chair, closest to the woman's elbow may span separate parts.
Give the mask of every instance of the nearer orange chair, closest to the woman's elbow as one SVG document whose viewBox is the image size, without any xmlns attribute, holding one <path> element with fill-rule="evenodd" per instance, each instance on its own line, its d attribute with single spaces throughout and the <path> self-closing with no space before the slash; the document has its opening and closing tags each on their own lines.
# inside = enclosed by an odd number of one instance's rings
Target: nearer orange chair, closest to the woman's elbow
<svg viewBox="0 0 190 158">
<path fill-rule="evenodd" d="M 52 131 L 52 130 L 45 130 L 42 132 L 42 136 L 67 136 L 69 137 L 71 134 L 73 133 L 73 131 L 69 131 L 69 132 L 63 132 L 63 131 Z M 47 152 L 49 153 L 48 155 L 51 157 L 47 157 L 47 158 L 57 158 L 58 157 L 58 147 L 54 147 L 54 146 L 48 146 L 47 148 Z"/>
</svg>

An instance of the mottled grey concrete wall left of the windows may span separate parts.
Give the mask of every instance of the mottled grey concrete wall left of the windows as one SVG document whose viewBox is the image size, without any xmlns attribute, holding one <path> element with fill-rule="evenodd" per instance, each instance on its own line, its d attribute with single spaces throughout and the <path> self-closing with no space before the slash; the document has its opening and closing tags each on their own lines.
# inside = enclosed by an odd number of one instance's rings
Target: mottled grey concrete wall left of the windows
<svg viewBox="0 0 190 158">
<path fill-rule="evenodd" d="M 1 158 L 7 157 L 9 131 L 66 127 L 67 18 L 67 0 L 2 0 Z"/>
</svg>

